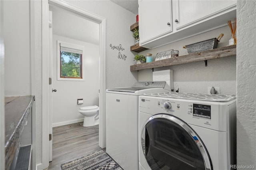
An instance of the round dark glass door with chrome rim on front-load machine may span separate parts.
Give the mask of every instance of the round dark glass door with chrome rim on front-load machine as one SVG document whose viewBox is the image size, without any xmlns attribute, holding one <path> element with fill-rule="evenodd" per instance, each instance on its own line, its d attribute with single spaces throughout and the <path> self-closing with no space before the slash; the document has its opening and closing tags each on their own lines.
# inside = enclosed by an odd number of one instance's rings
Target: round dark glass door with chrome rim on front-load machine
<svg viewBox="0 0 256 170">
<path fill-rule="evenodd" d="M 142 150 L 152 170 L 212 170 L 203 142 L 181 119 L 158 114 L 143 127 Z"/>
</svg>

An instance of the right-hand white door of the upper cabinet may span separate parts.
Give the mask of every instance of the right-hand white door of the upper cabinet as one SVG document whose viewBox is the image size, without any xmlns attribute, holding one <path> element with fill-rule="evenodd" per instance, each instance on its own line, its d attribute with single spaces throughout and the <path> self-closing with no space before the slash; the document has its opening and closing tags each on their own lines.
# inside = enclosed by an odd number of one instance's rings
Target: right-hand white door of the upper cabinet
<svg viewBox="0 0 256 170">
<path fill-rule="evenodd" d="M 176 30 L 210 20 L 236 7 L 236 0 L 175 0 L 174 3 L 174 21 L 178 20 L 175 23 Z"/>
</svg>

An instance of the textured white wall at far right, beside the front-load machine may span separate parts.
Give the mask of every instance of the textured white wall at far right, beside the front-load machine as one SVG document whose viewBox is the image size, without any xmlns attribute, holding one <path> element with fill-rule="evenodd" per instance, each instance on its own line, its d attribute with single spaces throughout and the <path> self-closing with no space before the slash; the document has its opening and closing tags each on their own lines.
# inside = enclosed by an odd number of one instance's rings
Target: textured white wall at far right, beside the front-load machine
<svg viewBox="0 0 256 170">
<path fill-rule="evenodd" d="M 256 168 L 256 1 L 237 3 L 237 165 Z"/>
</svg>

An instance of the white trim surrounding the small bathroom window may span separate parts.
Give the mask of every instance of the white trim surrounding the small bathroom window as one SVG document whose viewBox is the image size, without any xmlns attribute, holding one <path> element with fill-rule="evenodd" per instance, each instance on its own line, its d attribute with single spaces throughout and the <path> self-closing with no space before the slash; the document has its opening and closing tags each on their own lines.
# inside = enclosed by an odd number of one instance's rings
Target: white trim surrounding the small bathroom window
<svg viewBox="0 0 256 170">
<path fill-rule="evenodd" d="M 72 79 L 72 78 L 61 78 L 60 77 L 60 46 L 64 45 L 63 47 L 71 47 L 74 49 L 79 49 L 82 50 L 82 79 Z M 84 75 L 85 75 L 85 71 L 84 71 L 84 46 L 82 45 L 77 45 L 74 43 L 68 43 L 68 42 L 63 42 L 63 41 L 57 41 L 57 80 L 62 80 L 62 81 L 84 81 Z"/>
</svg>

